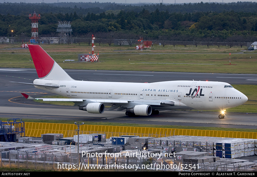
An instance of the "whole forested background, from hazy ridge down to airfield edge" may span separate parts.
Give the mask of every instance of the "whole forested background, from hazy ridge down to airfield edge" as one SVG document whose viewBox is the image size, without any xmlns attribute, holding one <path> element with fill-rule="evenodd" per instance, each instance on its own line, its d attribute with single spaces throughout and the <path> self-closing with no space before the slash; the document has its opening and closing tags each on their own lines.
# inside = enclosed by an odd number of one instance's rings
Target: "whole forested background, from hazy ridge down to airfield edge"
<svg viewBox="0 0 257 177">
<path fill-rule="evenodd" d="M 41 13 L 39 19 L 39 36 L 58 36 L 57 31 L 58 21 L 71 21 L 72 36 L 80 38 L 80 36 L 91 35 L 96 33 L 101 34 L 115 34 L 116 38 L 125 39 L 124 35 L 130 35 L 131 39 L 138 39 L 142 36 L 146 40 L 160 40 L 160 38 L 177 38 L 180 41 L 206 41 L 207 39 L 220 39 L 227 40 L 232 36 L 240 36 L 240 39 L 246 41 L 253 41 L 257 34 L 257 13 L 244 12 L 250 5 L 257 3 L 232 3 L 232 4 L 215 4 L 215 3 L 195 3 L 184 4 L 185 9 L 187 6 L 194 7 L 207 7 L 207 6 L 237 6 L 243 9 L 240 12 L 223 11 L 196 11 L 196 12 L 169 12 L 169 10 L 160 11 L 170 7 L 170 5 L 149 5 L 147 6 L 132 6 L 132 5 L 119 5 L 115 3 L 89 3 L 91 6 L 97 8 L 106 8 L 106 6 L 129 6 L 133 10 L 106 10 L 101 13 L 90 13 L 83 15 L 80 9 L 83 9 L 78 3 L 74 8 L 67 7 L 69 3 L 50 4 L 26 4 L 26 3 L 0 3 L 1 6 L 42 6 L 42 7 L 58 7 L 58 13 Z M 59 4 L 59 6 L 57 6 Z M 80 6 L 79 8 L 77 7 Z M 138 8 L 141 11 L 136 12 Z M 158 8 L 157 8 L 158 7 Z M 165 8 L 164 8 L 165 7 Z M 68 10 L 69 9 L 69 10 Z M 70 9 L 78 10 L 68 13 Z M 3 11 L 3 8 L 0 8 Z M 48 11 L 48 10 L 45 10 Z M 182 10 L 181 10 L 182 11 Z M 55 12 L 55 11 L 54 11 Z M 14 12 L 13 12 L 14 13 Z M 17 37 L 30 37 L 31 36 L 31 20 L 27 15 L 11 15 L 10 13 L 4 15 L 0 14 L 0 36 L 10 37 L 12 35 Z M 13 34 L 12 31 L 13 30 Z M 237 38 L 238 39 L 238 38 Z M 175 41 L 172 40 L 171 41 Z"/>
</svg>

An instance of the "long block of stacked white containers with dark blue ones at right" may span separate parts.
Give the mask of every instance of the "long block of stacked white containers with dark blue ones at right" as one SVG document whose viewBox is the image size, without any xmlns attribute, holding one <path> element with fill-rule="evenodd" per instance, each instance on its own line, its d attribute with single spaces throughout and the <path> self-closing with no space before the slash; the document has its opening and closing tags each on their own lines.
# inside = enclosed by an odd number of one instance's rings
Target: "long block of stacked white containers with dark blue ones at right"
<svg viewBox="0 0 257 177">
<path fill-rule="evenodd" d="M 257 139 L 180 135 L 163 138 L 149 138 L 148 148 L 159 150 L 169 149 L 168 152 L 208 152 L 209 156 L 231 159 L 257 155 Z"/>
</svg>

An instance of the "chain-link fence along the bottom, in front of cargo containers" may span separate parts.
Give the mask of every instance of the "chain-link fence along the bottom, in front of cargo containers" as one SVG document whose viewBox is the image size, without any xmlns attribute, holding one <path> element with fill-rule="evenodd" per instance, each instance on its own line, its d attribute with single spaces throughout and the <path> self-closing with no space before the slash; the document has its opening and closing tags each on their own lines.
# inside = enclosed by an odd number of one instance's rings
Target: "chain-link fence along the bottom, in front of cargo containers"
<svg viewBox="0 0 257 177">
<path fill-rule="evenodd" d="M 55 152 L 56 153 L 56 152 Z M 230 163 L 194 163 L 174 161 L 169 158 L 123 156 L 119 154 L 98 154 L 95 157 L 77 154 L 51 152 L 1 152 L 1 167 L 51 170 L 51 171 L 257 171 L 256 166 L 240 166 Z"/>
</svg>

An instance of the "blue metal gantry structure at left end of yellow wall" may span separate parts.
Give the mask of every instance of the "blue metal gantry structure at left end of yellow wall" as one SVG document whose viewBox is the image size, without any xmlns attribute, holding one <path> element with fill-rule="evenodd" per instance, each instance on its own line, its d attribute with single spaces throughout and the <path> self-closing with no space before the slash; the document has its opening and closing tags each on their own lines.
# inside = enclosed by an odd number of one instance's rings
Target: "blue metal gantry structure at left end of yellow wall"
<svg viewBox="0 0 257 177">
<path fill-rule="evenodd" d="M 22 119 L 7 119 L 7 122 L 0 120 L 0 141 L 14 142 L 25 136 L 25 123 Z"/>
</svg>

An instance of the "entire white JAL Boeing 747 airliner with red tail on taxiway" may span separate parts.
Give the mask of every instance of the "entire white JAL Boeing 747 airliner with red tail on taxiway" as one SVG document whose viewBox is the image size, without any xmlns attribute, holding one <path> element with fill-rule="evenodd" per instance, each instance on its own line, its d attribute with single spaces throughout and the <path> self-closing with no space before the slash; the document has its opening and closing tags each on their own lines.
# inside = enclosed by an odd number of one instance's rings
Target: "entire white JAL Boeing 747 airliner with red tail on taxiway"
<svg viewBox="0 0 257 177">
<path fill-rule="evenodd" d="M 43 101 L 72 101 L 80 110 L 103 113 L 108 110 L 126 110 L 127 116 L 149 116 L 159 110 L 220 109 L 224 111 L 245 103 L 248 98 L 229 83 L 214 81 L 164 81 L 153 83 L 95 82 L 72 79 L 40 45 L 28 45 L 39 79 L 26 83 L 47 90 L 67 99 L 33 98 Z"/>
</svg>

